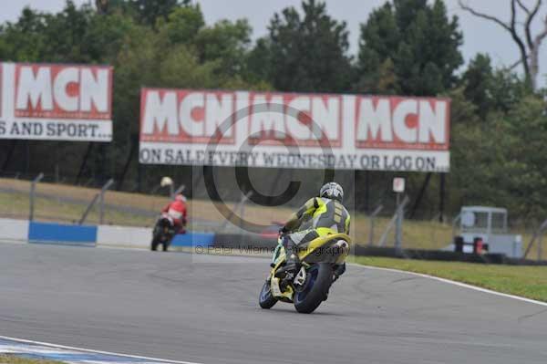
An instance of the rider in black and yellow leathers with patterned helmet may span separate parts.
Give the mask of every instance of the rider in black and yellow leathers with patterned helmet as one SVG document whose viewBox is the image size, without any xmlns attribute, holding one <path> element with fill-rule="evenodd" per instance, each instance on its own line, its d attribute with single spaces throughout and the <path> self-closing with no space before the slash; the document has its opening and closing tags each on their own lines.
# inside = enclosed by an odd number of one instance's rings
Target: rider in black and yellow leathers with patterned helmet
<svg viewBox="0 0 547 364">
<path fill-rule="evenodd" d="M 284 248 L 287 256 L 285 271 L 294 275 L 299 269 L 299 259 L 296 254 L 298 246 L 311 242 L 319 236 L 328 234 L 349 234 L 350 215 L 342 204 L 344 190 L 336 182 L 328 182 L 319 191 L 319 197 L 313 197 L 304 203 L 291 218 L 280 233 L 284 235 Z M 308 228 L 299 230 L 303 223 L 310 221 Z M 305 224 L 304 224 L 305 225 Z M 335 267 L 335 276 L 341 276 L 346 271 L 346 264 Z"/>
</svg>

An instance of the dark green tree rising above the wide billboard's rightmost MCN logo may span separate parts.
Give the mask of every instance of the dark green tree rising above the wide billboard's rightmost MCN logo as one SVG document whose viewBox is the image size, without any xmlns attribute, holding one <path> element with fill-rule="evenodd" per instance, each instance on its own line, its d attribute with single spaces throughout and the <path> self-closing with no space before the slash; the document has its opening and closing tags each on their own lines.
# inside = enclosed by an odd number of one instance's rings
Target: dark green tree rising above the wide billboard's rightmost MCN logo
<svg viewBox="0 0 547 364">
<path fill-rule="evenodd" d="M 432 5 L 427 0 L 394 0 L 361 25 L 355 88 L 437 95 L 456 83 L 454 72 L 463 63 L 461 44 L 458 17 L 448 18 L 442 0 Z M 389 89 L 384 89 L 386 84 Z"/>
</svg>

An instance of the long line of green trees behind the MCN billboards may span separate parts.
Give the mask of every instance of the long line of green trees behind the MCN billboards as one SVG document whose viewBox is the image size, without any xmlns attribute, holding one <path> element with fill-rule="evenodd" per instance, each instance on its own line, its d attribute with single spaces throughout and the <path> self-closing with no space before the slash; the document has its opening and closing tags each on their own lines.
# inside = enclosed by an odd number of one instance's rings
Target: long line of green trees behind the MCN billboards
<svg viewBox="0 0 547 364">
<path fill-rule="evenodd" d="M 441 96 L 452 99 L 444 213 L 486 204 L 547 217 L 546 92 L 537 82 L 486 54 L 462 68 L 459 18 L 442 0 L 387 0 L 364 18 L 356 55 L 349 36 L 319 0 L 276 12 L 255 41 L 245 18 L 206 24 L 191 0 L 67 0 L 56 14 L 26 7 L 0 26 L 0 59 L 112 65 L 115 132 L 108 144 L 0 140 L 0 172 L 93 185 L 112 176 L 119 189 L 142 192 L 166 174 L 194 185 L 191 167 L 139 166 L 142 86 Z M 271 181 L 275 172 L 257 173 Z M 356 208 L 390 200 L 394 174 L 356 172 Z M 439 213 L 436 177 L 406 177 L 412 197 L 424 192 L 413 215 Z"/>
</svg>

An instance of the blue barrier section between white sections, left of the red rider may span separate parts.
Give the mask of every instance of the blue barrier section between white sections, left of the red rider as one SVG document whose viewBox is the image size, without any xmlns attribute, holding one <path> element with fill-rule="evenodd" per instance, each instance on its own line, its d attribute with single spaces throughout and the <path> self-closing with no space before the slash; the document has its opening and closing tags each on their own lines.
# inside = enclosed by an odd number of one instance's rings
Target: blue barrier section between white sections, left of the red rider
<svg viewBox="0 0 547 364">
<path fill-rule="evenodd" d="M 97 226 L 36 223 L 31 221 L 28 224 L 28 242 L 95 246 Z"/>
</svg>

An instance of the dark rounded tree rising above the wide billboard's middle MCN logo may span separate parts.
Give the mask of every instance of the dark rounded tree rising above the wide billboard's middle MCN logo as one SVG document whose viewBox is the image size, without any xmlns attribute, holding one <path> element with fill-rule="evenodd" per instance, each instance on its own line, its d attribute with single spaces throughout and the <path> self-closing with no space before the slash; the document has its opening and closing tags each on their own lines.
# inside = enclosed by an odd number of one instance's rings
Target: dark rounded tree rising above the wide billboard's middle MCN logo
<svg viewBox="0 0 547 364">
<path fill-rule="evenodd" d="M 253 51 L 251 72 L 265 73 L 279 90 L 346 90 L 351 75 L 346 23 L 328 16 L 321 1 L 304 1 L 302 9 L 304 16 L 294 7 L 274 15 L 270 35 L 257 42 Z"/>
</svg>

